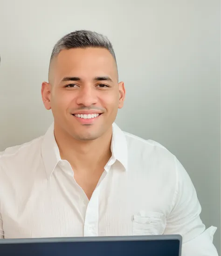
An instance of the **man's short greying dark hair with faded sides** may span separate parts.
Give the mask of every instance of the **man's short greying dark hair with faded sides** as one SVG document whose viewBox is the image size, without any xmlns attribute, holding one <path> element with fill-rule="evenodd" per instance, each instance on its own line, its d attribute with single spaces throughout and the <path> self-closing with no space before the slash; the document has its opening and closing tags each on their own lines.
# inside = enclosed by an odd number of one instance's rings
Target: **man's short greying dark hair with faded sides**
<svg viewBox="0 0 221 256">
<path fill-rule="evenodd" d="M 90 30 L 76 30 L 62 37 L 53 48 L 50 58 L 50 64 L 52 59 L 54 59 L 62 50 L 69 50 L 73 48 L 86 49 L 89 47 L 107 49 L 114 58 L 117 66 L 117 60 L 111 41 L 106 36 Z"/>
</svg>

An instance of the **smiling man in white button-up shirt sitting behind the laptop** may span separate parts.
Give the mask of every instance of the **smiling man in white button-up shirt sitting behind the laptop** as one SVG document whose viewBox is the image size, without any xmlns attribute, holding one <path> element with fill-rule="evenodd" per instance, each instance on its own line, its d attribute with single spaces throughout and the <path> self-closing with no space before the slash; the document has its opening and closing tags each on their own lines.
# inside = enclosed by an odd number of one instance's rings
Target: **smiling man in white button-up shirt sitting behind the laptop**
<svg viewBox="0 0 221 256">
<path fill-rule="evenodd" d="M 125 88 L 106 37 L 59 40 L 41 95 L 54 123 L 0 156 L 1 238 L 181 234 L 183 255 L 217 256 L 180 162 L 114 123 Z"/>
</svg>

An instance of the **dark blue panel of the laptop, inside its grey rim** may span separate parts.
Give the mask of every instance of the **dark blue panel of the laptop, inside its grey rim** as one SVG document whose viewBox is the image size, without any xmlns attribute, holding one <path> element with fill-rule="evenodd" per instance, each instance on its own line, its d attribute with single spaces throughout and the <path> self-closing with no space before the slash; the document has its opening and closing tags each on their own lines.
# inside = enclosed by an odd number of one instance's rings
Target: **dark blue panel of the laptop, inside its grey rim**
<svg viewBox="0 0 221 256">
<path fill-rule="evenodd" d="M 180 256 L 179 240 L 0 243 L 2 256 Z"/>
</svg>

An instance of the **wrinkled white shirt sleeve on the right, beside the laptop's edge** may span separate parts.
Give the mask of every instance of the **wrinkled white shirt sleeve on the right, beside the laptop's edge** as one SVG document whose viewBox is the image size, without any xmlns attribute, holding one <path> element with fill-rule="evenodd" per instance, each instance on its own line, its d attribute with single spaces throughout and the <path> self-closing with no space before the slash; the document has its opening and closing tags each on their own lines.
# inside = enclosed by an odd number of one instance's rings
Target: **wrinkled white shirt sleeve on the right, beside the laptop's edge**
<svg viewBox="0 0 221 256">
<path fill-rule="evenodd" d="M 175 165 L 177 182 L 173 210 L 167 216 L 164 234 L 182 236 L 182 256 L 218 256 L 213 244 L 216 227 L 206 230 L 200 219 L 201 206 L 193 183 L 176 157 Z"/>
</svg>

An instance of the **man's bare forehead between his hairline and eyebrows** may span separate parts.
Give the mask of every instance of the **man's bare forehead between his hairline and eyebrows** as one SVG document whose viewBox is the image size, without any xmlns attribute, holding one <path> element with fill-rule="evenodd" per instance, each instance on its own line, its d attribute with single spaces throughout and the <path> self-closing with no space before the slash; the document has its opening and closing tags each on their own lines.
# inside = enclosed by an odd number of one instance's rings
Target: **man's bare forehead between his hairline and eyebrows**
<svg viewBox="0 0 221 256">
<path fill-rule="evenodd" d="M 53 66 L 52 73 L 56 76 L 56 81 L 72 76 L 80 77 L 82 80 L 94 79 L 98 76 L 117 79 L 115 60 L 108 50 L 102 48 L 62 50 L 51 66 Z"/>
</svg>

